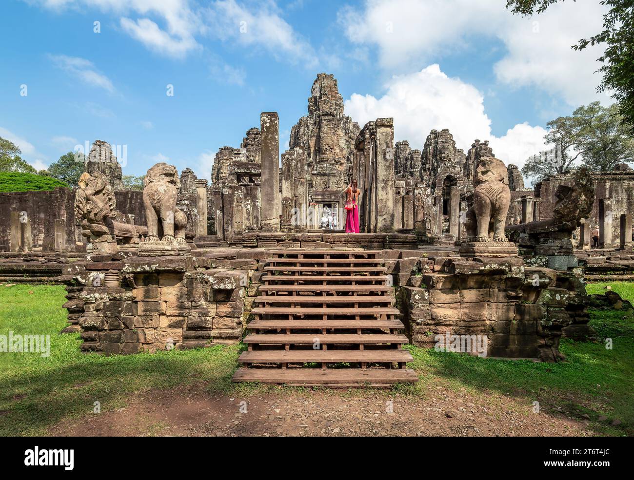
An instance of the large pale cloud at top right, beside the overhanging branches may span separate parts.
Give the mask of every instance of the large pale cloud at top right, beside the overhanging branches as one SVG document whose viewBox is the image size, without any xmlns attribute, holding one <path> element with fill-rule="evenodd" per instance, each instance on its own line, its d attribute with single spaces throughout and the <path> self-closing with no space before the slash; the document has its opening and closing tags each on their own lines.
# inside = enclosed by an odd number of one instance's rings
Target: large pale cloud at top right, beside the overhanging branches
<svg viewBox="0 0 634 480">
<path fill-rule="evenodd" d="M 535 85 L 578 106 L 597 99 L 595 60 L 603 47 L 570 47 L 602 30 L 605 10 L 594 1 L 565 2 L 523 18 L 502 0 L 366 0 L 362 9 L 341 9 L 338 21 L 352 42 L 377 47 L 380 66 L 391 72 L 411 72 L 412 65 L 467 46 L 491 49 L 501 41 L 507 51 L 493 65 L 500 82 Z"/>
</svg>

